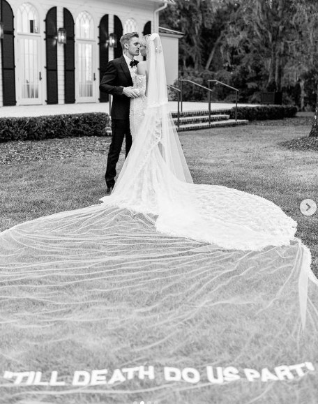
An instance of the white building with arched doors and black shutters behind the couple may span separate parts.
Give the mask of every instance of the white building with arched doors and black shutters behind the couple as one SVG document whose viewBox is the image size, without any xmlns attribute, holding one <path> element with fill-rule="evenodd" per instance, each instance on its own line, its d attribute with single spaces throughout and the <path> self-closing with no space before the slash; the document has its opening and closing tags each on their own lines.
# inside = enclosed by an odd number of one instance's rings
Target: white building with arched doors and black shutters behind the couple
<svg viewBox="0 0 318 404">
<path fill-rule="evenodd" d="M 173 2 L 0 0 L 0 106 L 107 101 L 98 86 L 107 62 L 121 55 L 119 38 L 158 31 L 160 8 Z M 160 31 L 172 84 L 180 36 Z"/>
</svg>

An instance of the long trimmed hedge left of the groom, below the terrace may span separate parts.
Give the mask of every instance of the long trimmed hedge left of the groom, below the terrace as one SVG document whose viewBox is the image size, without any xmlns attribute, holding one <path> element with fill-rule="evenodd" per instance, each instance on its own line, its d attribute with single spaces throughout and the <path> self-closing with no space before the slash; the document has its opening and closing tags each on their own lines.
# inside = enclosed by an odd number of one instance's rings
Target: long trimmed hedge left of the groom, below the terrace
<svg viewBox="0 0 318 404">
<path fill-rule="evenodd" d="M 105 136 L 107 126 L 109 116 L 103 112 L 0 118 L 0 142 Z"/>
</svg>

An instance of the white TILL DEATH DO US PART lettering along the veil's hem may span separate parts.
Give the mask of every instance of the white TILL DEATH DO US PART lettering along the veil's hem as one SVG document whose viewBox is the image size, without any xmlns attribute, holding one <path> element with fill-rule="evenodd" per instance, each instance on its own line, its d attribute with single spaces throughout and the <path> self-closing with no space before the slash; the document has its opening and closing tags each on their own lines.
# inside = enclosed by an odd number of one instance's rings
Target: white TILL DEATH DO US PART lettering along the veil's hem
<svg viewBox="0 0 318 404">
<path fill-rule="evenodd" d="M 96 385 L 114 385 L 128 382 L 129 380 L 155 380 L 156 377 L 162 377 L 167 382 L 186 382 L 199 383 L 200 381 L 210 382 L 211 384 L 222 384 L 225 382 L 234 382 L 245 379 L 248 382 L 268 382 L 293 380 L 297 377 L 303 377 L 306 373 L 315 371 L 311 362 L 303 362 L 295 365 L 276 366 L 272 370 L 268 368 L 252 369 L 243 368 L 241 371 L 234 366 L 213 367 L 206 366 L 200 373 L 196 368 L 176 368 L 165 366 L 158 369 L 154 366 L 135 366 L 132 368 L 121 368 L 109 371 L 107 369 L 95 369 L 93 371 L 75 371 L 72 380 L 67 382 L 63 379 L 70 379 L 66 375 L 59 375 L 57 371 L 52 371 L 50 375 L 43 375 L 40 371 L 10 372 L 6 371 L 3 378 L 10 380 L 15 385 L 24 386 L 52 386 L 63 387 L 73 386 L 96 386 Z"/>
</svg>

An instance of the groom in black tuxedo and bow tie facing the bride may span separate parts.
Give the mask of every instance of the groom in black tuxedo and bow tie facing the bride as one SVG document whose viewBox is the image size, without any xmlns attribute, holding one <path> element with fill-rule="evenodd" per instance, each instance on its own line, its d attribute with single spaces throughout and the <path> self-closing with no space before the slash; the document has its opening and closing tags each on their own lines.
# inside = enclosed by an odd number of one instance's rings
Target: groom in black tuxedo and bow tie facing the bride
<svg viewBox="0 0 318 404">
<path fill-rule="evenodd" d="M 132 89 L 132 77 L 137 70 L 139 55 L 139 36 L 137 32 L 125 33 L 120 39 L 123 55 L 109 61 L 105 74 L 100 82 L 100 91 L 112 94 L 112 143 L 109 146 L 105 180 L 106 195 L 112 193 L 115 185 L 116 164 L 119 160 L 123 138 L 126 137 L 126 157 L 130 151 L 132 138 L 129 125 L 130 98 L 137 98 Z"/>
</svg>

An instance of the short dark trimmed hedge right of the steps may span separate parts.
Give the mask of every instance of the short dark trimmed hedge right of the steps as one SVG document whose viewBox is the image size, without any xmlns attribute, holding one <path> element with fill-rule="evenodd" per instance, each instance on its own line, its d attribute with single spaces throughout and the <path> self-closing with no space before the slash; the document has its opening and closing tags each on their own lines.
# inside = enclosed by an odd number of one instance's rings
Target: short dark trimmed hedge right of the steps
<svg viewBox="0 0 318 404">
<path fill-rule="evenodd" d="M 265 119 L 292 118 L 296 115 L 297 108 L 291 105 L 260 105 L 257 107 L 238 107 L 237 119 L 248 121 L 264 121 Z M 229 114 L 230 119 L 235 119 L 235 108 Z"/>
</svg>

